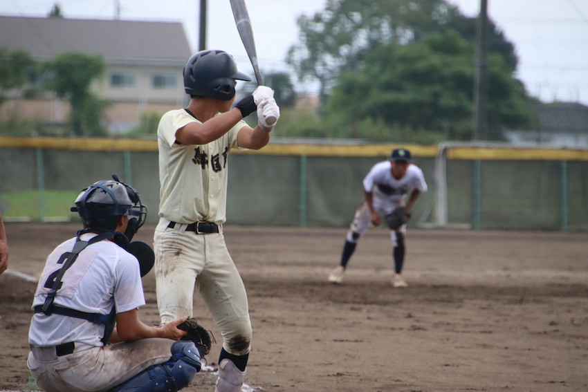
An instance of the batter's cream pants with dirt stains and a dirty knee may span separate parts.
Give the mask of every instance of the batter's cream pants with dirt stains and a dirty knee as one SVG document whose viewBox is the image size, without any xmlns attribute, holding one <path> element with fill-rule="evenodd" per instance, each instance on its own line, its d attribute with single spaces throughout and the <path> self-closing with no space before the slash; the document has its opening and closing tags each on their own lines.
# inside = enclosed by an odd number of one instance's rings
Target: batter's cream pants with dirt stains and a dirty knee
<svg viewBox="0 0 588 392">
<path fill-rule="evenodd" d="M 192 316 L 194 287 L 233 355 L 249 353 L 251 321 L 245 286 L 222 233 L 169 228 L 160 218 L 154 234 L 157 305 L 163 324 Z M 179 225 L 181 228 L 184 225 Z"/>
</svg>

